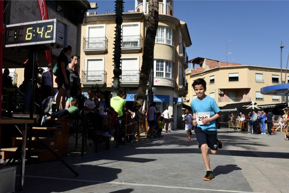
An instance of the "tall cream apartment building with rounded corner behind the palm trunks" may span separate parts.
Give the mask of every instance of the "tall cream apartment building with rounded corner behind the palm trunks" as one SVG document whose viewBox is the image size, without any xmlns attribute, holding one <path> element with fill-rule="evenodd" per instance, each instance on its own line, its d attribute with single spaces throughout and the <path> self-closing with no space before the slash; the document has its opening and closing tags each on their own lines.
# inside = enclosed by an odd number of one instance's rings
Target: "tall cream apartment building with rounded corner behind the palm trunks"
<svg viewBox="0 0 289 193">
<path fill-rule="evenodd" d="M 121 89 L 134 102 L 142 65 L 144 38 L 148 22 L 148 1 L 135 1 L 135 10 L 123 13 Z M 192 43 L 185 22 L 173 16 L 173 1 L 159 1 L 159 27 L 155 39 L 153 66 L 153 100 L 160 112 L 181 117 L 181 105 L 173 97 L 186 96 L 186 47 Z M 87 13 L 81 28 L 81 84 L 85 92 L 91 86 L 112 90 L 115 14 Z M 180 124 L 180 122 L 178 123 Z M 176 125 L 177 126 L 177 125 Z"/>
</svg>

